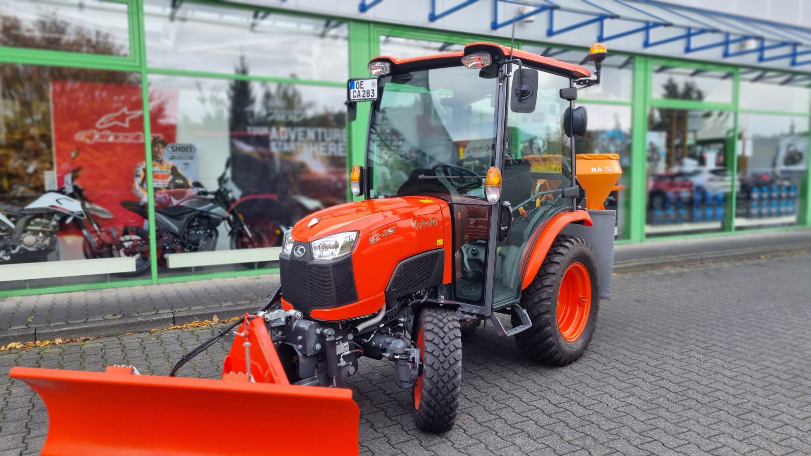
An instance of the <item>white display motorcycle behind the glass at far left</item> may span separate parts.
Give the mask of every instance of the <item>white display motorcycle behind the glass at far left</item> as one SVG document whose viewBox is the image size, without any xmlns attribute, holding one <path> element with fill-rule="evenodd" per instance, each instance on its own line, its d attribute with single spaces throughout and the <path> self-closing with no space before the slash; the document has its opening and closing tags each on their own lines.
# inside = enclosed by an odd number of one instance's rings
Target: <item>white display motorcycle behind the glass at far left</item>
<svg viewBox="0 0 811 456">
<path fill-rule="evenodd" d="M 24 207 L 0 204 L 0 265 L 47 260 L 58 247 L 57 233 L 71 223 L 84 237 L 84 256 L 110 255 L 118 235 L 115 230 L 101 228 L 96 217 L 113 218 L 113 214 L 92 203 L 75 182 L 82 170 L 81 166 L 73 167 L 78 155 L 77 148 L 71 153 L 71 172 L 62 178 L 58 190 L 46 191 Z M 105 245 L 105 253 L 93 252 L 98 243 Z"/>
</svg>

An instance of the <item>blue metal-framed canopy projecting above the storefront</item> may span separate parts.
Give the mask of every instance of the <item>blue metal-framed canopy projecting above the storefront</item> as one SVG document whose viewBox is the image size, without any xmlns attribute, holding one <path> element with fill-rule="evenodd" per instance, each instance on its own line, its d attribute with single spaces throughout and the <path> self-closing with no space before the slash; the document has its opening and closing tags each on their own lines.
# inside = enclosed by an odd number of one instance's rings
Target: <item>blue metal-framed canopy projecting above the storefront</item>
<svg viewBox="0 0 811 456">
<path fill-rule="evenodd" d="M 436 0 L 431 0 L 428 20 L 487 1 L 493 6 L 493 30 L 545 14 L 547 37 L 596 26 L 597 41 L 638 35 L 643 48 L 681 41 L 684 54 L 719 49 L 719 58 L 755 54 L 757 62 L 787 59 L 792 67 L 811 63 L 811 58 L 801 58 L 811 54 L 811 28 L 659 0 L 457 0 L 451 2 L 453 6 L 446 3 L 444 11 L 438 11 Z M 360 0 L 358 11 L 366 12 L 380 2 Z M 505 5 L 521 6 L 520 14 L 500 17 Z"/>
</svg>

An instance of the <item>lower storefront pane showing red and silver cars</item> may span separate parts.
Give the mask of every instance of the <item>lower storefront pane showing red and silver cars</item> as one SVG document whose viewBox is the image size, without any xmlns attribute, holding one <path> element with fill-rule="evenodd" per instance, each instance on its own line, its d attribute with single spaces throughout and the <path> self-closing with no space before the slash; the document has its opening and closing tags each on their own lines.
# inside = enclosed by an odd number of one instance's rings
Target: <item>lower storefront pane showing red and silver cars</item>
<svg viewBox="0 0 811 456">
<path fill-rule="evenodd" d="M 651 108 L 646 235 L 723 230 L 736 182 L 727 163 L 734 117 L 732 111 Z"/>
</svg>

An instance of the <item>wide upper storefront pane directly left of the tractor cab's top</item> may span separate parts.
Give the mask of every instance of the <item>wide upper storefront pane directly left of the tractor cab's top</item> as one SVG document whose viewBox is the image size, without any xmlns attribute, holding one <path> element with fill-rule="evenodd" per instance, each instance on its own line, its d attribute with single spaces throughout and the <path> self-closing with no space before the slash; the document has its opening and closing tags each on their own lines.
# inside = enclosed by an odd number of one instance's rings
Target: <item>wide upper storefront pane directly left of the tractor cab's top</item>
<svg viewBox="0 0 811 456">
<path fill-rule="evenodd" d="M 348 27 L 241 8 L 144 2 L 147 64 L 152 68 L 345 82 Z"/>
</svg>

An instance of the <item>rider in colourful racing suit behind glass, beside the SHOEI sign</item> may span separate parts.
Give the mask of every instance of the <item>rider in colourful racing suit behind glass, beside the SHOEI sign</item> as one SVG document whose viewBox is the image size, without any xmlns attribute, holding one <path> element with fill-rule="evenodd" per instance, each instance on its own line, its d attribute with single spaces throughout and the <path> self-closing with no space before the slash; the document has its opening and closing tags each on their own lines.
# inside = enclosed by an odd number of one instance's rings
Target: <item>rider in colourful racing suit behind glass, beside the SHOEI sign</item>
<svg viewBox="0 0 811 456">
<path fill-rule="evenodd" d="M 152 138 L 152 187 L 155 196 L 155 209 L 163 209 L 174 205 L 174 202 L 187 196 L 191 191 L 189 179 L 182 174 L 180 168 L 173 162 L 164 159 L 166 141 L 161 136 Z M 135 166 L 135 182 L 133 191 L 144 203 L 147 201 L 147 170 L 146 163 L 140 162 Z"/>
</svg>

